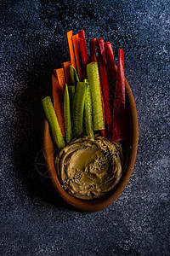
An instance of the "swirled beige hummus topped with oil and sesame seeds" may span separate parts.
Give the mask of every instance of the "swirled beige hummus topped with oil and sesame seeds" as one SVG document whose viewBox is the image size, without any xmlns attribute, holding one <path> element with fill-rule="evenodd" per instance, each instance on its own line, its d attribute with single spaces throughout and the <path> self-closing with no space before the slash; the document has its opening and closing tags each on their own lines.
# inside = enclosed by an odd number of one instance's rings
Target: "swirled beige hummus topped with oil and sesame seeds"
<svg viewBox="0 0 170 256">
<path fill-rule="evenodd" d="M 105 195 L 122 176 L 122 146 L 96 136 L 76 139 L 56 156 L 56 169 L 62 187 L 85 200 Z"/>
</svg>

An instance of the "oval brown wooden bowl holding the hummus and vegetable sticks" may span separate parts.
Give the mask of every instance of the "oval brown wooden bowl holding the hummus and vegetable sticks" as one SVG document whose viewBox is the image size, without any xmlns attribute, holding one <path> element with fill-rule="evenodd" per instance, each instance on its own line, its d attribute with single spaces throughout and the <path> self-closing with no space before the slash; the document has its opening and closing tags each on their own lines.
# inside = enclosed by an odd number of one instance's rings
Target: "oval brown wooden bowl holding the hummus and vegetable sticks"
<svg viewBox="0 0 170 256">
<path fill-rule="evenodd" d="M 49 126 L 47 120 L 44 121 L 43 126 L 43 150 L 45 154 L 45 160 L 48 166 L 48 172 L 54 183 L 54 188 L 58 192 L 59 197 L 64 200 L 70 207 L 77 209 L 81 212 L 97 212 L 111 205 L 113 201 L 122 193 L 122 190 L 127 185 L 127 182 L 133 172 L 133 166 L 136 159 L 139 137 L 138 116 L 136 111 L 135 102 L 133 99 L 133 93 L 130 89 L 127 80 L 126 83 L 126 103 L 127 103 L 127 119 L 128 119 L 128 138 L 125 146 L 125 159 L 123 165 L 123 175 L 120 182 L 116 185 L 116 188 L 111 190 L 104 197 L 94 199 L 91 201 L 85 201 L 77 199 L 69 195 L 65 189 L 63 189 L 59 183 L 58 176 L 54 166 L 54 145 L 50 136 Z"/>
</svg>

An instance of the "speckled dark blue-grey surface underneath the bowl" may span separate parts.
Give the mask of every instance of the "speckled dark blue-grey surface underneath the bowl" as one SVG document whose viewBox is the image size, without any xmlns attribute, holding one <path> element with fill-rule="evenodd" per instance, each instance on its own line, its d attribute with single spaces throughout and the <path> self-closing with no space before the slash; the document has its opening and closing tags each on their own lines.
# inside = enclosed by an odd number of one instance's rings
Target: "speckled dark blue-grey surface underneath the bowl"
<svg viewBox="0 0 170 256">
<path fill-rule="evenodd" d="M 3 1 L 1 255 L 170 255 L 169 1 Z M 122 195 L 101 212 L 73 212 L 35 168 L 41 99 L 69 59 L 65 32 L 124 49 L 139 115 L 139 150 Z"/>
</svg>

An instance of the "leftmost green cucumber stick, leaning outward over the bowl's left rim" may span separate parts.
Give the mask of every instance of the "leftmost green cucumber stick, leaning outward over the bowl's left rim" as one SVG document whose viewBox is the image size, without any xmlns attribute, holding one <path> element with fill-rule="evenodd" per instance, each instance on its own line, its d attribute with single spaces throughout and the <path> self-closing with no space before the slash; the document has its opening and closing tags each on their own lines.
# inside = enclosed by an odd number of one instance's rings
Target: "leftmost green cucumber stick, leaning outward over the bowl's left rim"
<svg viewBox="0 0 170 256">
<path fill-rule="evenodd" d="M 45 112 L 45 116 L 48 119 L 48 123 L 50 125 L 52 135 L 54 138 L 54 143 L 57 145 L 58 148 L 64 148 L 65 147 L 65 140 L 62 136 L 59 122 L 56 117 L 53 103 L 51 102 L 50 96 L 47 96 L 42 99 L 42 105 Z"/>
</svg>

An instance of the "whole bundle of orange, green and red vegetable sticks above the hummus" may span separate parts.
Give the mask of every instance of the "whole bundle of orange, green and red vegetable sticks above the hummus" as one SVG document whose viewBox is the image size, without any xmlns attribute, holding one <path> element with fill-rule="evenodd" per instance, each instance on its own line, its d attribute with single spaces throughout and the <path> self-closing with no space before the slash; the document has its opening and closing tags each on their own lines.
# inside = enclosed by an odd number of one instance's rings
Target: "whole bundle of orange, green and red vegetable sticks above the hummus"
<svg viewBox="0 0 170 256">
<path fill-rule="evenodd" d="M 127 138 L 123 50 L 118 50 L 117 72 L 111 43 L 90 40 L 84 31 L 66 33 L 71 60 L 54 69 L 53 103 L 42 99 L 54 142 L 64 148 L 73 138 L 94 133 L 113 141 Z M 97 53 L 96 54 L 96 48 Z"/>
</svg>

